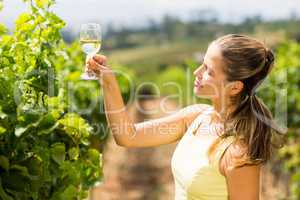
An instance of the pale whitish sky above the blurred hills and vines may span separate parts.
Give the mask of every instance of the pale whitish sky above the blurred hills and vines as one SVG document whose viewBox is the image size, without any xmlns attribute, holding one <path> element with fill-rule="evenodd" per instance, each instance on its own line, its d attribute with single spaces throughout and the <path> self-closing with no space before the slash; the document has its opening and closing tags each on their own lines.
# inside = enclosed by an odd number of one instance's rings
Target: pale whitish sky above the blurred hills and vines
<svg viewBox="0 0 300 200">
<path fill-rule="evenodd" d="M 1 0 L 0 0 L 1 1 Z M 55 13 L 67 22 L 67 28 L 78 30 L 80 24 L 97 22 L 115 26 L 143 25 L 149 19 L 159 21 L 165 14 L 191 19 L 203 9 L 216 11 L 219 19 L 239 22 L 246 16 L 264 19 L 300 16 L 300 0 L 56 0 Z M 26 9 L 22 0 L 3 0 L 0 22 L 13 27 L 16 17 Z"/>
</svg>

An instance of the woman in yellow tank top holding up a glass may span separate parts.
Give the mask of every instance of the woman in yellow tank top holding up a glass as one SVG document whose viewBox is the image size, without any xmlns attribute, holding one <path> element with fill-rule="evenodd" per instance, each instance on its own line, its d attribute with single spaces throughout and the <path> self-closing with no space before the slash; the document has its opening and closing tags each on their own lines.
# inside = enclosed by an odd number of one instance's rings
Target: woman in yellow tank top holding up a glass
<svg viewBox="0 0 300 200">
<path fill-rule="evenodd" d="M 194 71 L 194 93 L 212 106 L 187 106 L 134 124 L 107 58 L 87 61 L 103 88 L 106 117 L 118 145 L 150 147 L 179 141 L 172 157 L 176 200 L 257 200 L 260 168 L 271 156 L 272 115 L 256 88 L 274 55 L 263 43 L 230 34 L 213 41 Z M 167 127 L 167 128 L 166 128 Z"/>
</svg>

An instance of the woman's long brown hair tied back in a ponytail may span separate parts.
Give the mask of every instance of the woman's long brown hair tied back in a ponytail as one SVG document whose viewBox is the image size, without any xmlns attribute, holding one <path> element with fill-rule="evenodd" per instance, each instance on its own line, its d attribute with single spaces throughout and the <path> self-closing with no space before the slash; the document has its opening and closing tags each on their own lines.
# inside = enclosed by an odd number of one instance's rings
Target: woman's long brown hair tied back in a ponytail
<svg viewBox="0 0 300 200">
<path fill-rule="evenodd" d="M 270 159 L 273 147 L 282 144 L 273 143 L 273 135 L 280 133 L 279 129 L 272 113 L 255 91 L 273 68 L 274 54 L 262 42 L 245 35 L 229 34 L 213 42 L 221 50 L 227 81 L 242 81 L 244 84 L 242 91 L 230 98 L 235 110 L 226 118 L 220 140 L 234 135 L 236 140 L 245 144 L 247 151 L 236 166 L 265 163 Z M 217 142 L 211 146 L 209 154 Z"/>
</svg>

